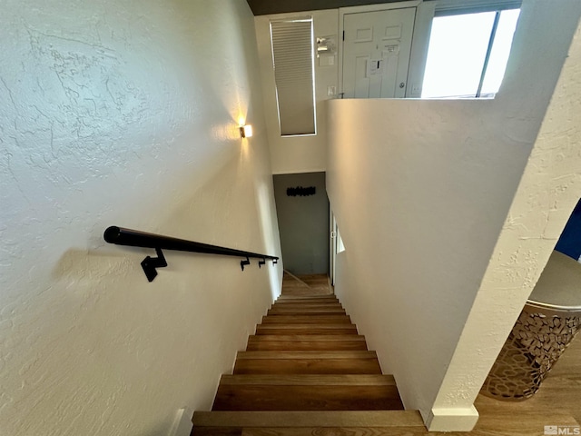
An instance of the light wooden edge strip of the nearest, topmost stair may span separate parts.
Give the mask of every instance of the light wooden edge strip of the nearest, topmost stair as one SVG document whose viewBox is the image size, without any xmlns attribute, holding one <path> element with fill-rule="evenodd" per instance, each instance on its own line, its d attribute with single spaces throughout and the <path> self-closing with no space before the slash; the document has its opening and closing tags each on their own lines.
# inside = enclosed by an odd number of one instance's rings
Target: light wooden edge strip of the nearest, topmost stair
<svg viewBox="0 0 581 436">
<path fill-rule="evenodd" d="M 419 411 L 196 411 L 201 427 L 416 427 Z"/>
</svg>

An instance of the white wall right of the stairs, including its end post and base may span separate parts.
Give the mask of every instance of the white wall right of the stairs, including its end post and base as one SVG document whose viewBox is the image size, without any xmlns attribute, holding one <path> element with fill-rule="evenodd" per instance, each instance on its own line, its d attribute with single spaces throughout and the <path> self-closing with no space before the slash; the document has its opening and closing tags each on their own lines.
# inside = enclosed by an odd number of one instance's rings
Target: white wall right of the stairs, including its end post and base
<svg viewBox="0 0 581 436">
<path fill-rule="evenodd" d="M 564 195 L 565 210 L 550 214 L 550 232 L 542 230 L 545 217 L 537 227 L 519 230 L 524 237 L 550 236 L 538 252 L 517 253 L 518 260 L 539 253 L 537 263 L 527 263 L 527 273 L 519 274 L 522 265 L 507 265 L 508 248 L 493 259 L 491 264 L 503 265 L 495 292 L 510 292 L 515 276 L 527 279 L 522 289 L 517 285 L 516 300 L 507 307 L 498 299 L 475 305 L 580 15 L 575 0 L 559 8 L 548 0 L 525 0 L 505 84 L 495 100 L 329 104 L 328 191 L 347 247 L 338 255 L 335 290 L 378 351 L 383 371 L 394 373 L 406 407 L 419 409 L 434 430 L 467 430 L 476 421 L 472 403 L 507 325 L 555 245 L 576 203 L 571 198 L 579 197 L 574 189 Z M 576 97 L 578 89 L 569 87 L 568 93 Z M 566 137 L 561 128 L 551 130 Z M 557 162 L 565 152 L 560 144 L 551 146 L 547 153 L 547 144 L 538 143 L 537 158 L 550 183 L 566 191 L 558 178 L 564 167 Z M 566 180 L 572 177 L 567 171 Z M 528 203 L 519 210 L 547 215 L 555 201 L 548 193 L 556 191 L 550 183 L 531 182 L 537 191 L 525 195 Z M 516 234 L 513 230 L 512 245 L 505 245 L 511 250 L 524 246 Z M 502 322 L 468 317 L 473 306 L 479 315 L 504 313 Z M 461 340 L 464 332 L 471 334 L 469 341 Z"/>
</svg>

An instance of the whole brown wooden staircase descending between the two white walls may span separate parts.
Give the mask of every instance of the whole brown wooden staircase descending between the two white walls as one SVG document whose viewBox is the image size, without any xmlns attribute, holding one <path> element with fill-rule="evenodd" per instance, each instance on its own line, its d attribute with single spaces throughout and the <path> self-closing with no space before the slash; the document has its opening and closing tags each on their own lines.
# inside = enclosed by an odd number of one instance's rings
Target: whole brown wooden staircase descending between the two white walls
<svg viewBox="0 0 581 436">
<path fill-rule="evenodd" d="M 288 290 L 288 286 L 287 286 Z M 193 436 L 424 434 L 404 411 L 337 298 L 285 292 L 222 375 L 212 411 L 196 411 Z"/>
</svg>

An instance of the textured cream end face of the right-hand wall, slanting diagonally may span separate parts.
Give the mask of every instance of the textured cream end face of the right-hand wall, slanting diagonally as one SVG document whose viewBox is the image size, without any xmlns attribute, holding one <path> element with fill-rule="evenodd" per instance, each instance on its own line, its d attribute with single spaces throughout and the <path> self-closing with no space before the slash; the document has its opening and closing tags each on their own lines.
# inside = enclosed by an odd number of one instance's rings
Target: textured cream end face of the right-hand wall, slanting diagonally
<svg viewBox="0 0 581 436">
<path fill-rule="evenodd" d="M 438 392 L 432 412 L 434 428 L 440 425 L 438 415 L 473 400 L 482 386 L 579 197 L 581 26 Z M 490 325 L 495 334 L 489 334 Z M 478 352 L 474 352 L 475 344 Z"/>
</svg>

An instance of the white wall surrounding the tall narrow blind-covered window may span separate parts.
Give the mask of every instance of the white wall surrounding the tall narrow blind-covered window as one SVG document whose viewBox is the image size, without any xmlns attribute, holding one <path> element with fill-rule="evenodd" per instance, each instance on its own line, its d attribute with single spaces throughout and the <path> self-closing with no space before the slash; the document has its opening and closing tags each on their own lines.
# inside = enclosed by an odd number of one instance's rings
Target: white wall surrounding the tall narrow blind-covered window
<svg viewBox="0 0 581 436">
<path fill-rule="evenodd" d="M 339 10 L 310 11 L 292 14 L 260 15 L 254 18 L 256 42 L 260 56 L 262 93 L 266 125 L 271 147 L 272 173 L 317 173 L 327 164 L 327 126 L 324 102 L 335 95 L 327 95 L 327 87 L 338 86 L 338 57 L 333 65 L 320 66 L 315 59 L 315 98 L 317 105 L 317 134 L 281 137 L 276 85 L 272 68 L 271 21 L 312 17 L 314 37 L 334 36 L 339 49 Z"/>
</svg>

